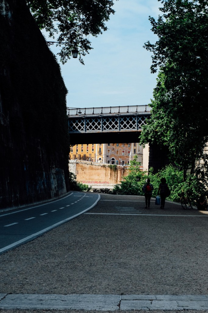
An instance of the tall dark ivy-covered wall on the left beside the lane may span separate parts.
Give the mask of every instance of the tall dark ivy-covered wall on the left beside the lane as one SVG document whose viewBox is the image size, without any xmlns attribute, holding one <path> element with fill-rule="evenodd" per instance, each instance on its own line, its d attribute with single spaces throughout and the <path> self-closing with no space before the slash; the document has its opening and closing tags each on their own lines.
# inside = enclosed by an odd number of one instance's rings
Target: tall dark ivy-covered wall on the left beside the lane
<svg viewBox="0 0 208 313">
<path fill-rule="evenodd" d="M 0 4 L 0 209 L 69 191 L 67 93 L 24 0 Z"/>
</svg>

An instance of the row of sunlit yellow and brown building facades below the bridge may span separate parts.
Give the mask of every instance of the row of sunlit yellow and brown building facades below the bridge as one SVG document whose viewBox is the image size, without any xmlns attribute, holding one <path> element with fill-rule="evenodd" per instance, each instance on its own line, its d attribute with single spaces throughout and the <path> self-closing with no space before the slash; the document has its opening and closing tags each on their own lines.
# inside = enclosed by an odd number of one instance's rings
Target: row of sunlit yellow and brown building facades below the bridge
<svg viewBox="0 0 208 313">
<path fill-rule="evenodd" d="M 70 148 L 70 160 L 128 165 L 137 155 L 143 165 L 143 146 L 139 143 L 77 144 Z"/>
</svg>

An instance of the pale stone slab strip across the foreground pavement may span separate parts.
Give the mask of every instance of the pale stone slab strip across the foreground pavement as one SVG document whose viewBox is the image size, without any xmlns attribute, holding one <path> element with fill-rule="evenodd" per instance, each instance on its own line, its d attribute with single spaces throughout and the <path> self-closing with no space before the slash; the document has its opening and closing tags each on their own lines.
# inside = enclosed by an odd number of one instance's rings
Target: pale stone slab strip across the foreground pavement
<svg viewBox="0 0 208 313">
<path fill-rule="evenodd" d="M 6 310 L 208 310 L 208 295 L 0 294 Z"/>
</svg>

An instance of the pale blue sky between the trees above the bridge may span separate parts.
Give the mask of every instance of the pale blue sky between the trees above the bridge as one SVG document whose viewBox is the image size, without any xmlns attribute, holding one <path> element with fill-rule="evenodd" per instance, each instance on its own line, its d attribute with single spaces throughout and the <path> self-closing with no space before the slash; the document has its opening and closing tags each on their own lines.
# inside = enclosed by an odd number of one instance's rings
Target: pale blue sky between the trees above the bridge
<svg viewBox="0 0 208 313">
<path fill-rule="evenodd" d="M 68 90 L 67 107 L 146 105 L 150 103 L 157 74 L 151 74 L 151 52 L 143 48 L 157 37 L 151 31 L 149 16 L 157 19 L 157 0 L 114 1 L 115 14 L 106 23 L 108 30 L 91 37 L 89 54 L 60 63 Z M 53 40 L 53 39 L 49 39 Z M 56 54 L 58 48 L 50 47 Z M 58 58 L 59 60 L 59 58 Z"/>
</svg>

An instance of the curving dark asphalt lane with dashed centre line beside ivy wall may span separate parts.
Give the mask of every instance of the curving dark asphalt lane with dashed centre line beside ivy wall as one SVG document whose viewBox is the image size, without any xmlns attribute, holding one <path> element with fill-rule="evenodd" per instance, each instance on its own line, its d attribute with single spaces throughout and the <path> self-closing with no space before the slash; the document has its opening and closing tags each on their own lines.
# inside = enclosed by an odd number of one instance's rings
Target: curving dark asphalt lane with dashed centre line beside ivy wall
<svg viewBox="0 0 208 313">
<path fill-rule="evenodd" d="M 98 202 L 96 193 L 71 192 L 38 206 L 0 214 L 0 254 L 87 212 Z"/>
</svg>

